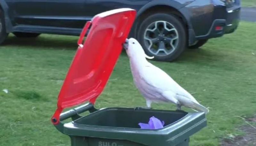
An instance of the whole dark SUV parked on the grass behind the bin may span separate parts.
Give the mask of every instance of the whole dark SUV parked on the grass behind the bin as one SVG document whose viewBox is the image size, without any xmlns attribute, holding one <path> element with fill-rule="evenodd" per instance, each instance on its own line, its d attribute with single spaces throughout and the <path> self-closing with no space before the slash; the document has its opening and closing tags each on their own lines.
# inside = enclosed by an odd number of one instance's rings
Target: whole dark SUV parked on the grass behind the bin
<svg viewBox="0 0 256 146">
<path fill-rule="evenodd" d="M 100 12 L 135 9 L 130 37 L 159 61 L 172 61 L 185 48 L 234 32 L 241 7 L 240 0 L 0 0 L 0 5 L 0 43 L 9 33 L 79 35 Z"/>
</svg>

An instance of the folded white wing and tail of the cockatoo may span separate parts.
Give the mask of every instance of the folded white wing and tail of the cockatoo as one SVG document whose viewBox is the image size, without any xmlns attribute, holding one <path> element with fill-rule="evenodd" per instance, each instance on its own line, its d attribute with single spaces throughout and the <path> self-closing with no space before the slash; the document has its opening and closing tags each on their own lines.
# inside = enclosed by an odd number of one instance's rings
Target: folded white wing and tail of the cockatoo
<svg viewBox="0 0 256 146">
<path fill-rule="evenodd" d="M 196 99 L 189 94 L 185 89 L 180 87 L 167 73 L 160 68 L 148 64 L 143 67 L 140 72 L 140 77 L 143 81 L 142 87 L 147 87 L 146 90 L 149 93 L 161 95 L 167 100 L 175 103 L 182 104 L 198 111 L 204 111 L 206 113 L 209 110 L 203 105 L 199 104 Z"/>
</svg>

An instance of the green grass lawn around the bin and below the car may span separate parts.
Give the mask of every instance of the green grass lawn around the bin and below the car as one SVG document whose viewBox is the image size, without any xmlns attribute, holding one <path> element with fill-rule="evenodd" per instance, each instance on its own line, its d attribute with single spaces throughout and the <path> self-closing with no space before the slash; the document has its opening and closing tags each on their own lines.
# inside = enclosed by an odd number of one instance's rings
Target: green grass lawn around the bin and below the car
<svg viewBox="0 0 256 146">
<path fill-rule="evenodd" d="M 208 126 L 191 137 L 191 146 L 217 146 L 220 138 L 241 134 L 235 116 L 256 112 L 256 25 L 242 22 L 238 30 L 211 39 L 199 50 L 187 50 L 173 63 L 154 62 L 201 104 L 210 107 Z M 10 36 L 0 49 L 0 143 L 2 146 L 68 146 L 69 137 L 50 119 L 59 90 L 76 52 L 78 37 L 41 35 L 33 39 Z M 8 89 L 6 94 L 2 90 Z M 104 92 L 102 107 L 145 106 L 132 82 L 128 58 L 121 55 Z M 153 108 L 175 109 L 174 104 Z M 184 108 L 185 110 L 189 110 Z"/>
</svg>

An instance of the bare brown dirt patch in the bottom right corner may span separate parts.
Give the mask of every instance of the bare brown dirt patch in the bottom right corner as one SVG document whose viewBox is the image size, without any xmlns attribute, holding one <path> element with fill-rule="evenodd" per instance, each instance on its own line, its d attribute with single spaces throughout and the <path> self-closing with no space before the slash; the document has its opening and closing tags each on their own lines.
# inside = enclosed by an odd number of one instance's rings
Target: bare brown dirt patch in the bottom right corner
<svg viewBox="0 0 256 146">
<path fill-rule="evenodd" d="M 245 120 L 255 125 L 256 115 Z M 223 139 L 221 146 L 256 146 L 256 128 L 253 125 L 247 124 L 238 129 L 244 132 L 244 135 L 239 135 L 232 139 Z"/>
</svg>

